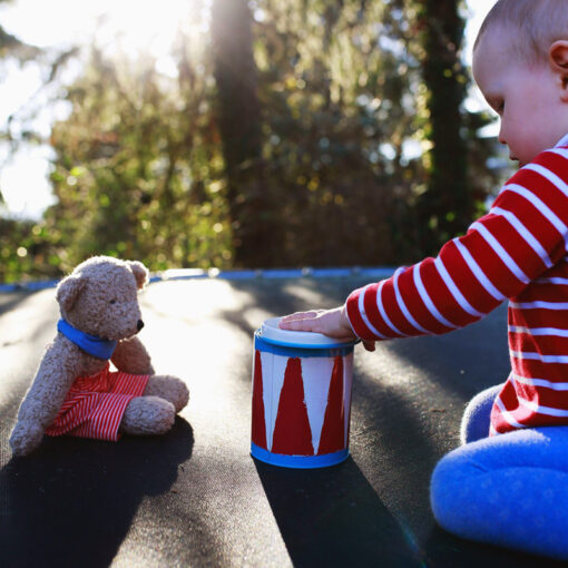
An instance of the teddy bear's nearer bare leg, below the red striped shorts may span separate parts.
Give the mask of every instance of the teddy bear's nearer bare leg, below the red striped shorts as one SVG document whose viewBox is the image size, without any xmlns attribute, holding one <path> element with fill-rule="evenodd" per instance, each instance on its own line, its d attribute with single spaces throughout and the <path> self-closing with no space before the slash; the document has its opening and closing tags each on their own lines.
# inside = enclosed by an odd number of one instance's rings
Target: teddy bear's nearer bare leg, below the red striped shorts
<svg viewBox="0 0 568 568">
<path fill-rule="evenodd" d="M 123 415 L 120 431 L 127 434 L 164 434 L 173 425 L 176 409 L 167 400 L 158 396 L 136 396 Z"/>
</svg>

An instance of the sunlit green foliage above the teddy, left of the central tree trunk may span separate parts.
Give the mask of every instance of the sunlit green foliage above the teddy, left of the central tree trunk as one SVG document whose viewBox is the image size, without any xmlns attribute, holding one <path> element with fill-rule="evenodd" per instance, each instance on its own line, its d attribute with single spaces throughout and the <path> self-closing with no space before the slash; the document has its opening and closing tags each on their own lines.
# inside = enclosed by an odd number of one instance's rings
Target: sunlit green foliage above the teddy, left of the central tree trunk
<svg viewBox="0 0 568 568">
<path fill-rule="evenodd" d="M 61 268 L 94 254 L 139 258 L 158 271 L 226 267 L 210 84 L 195 68 L 166 80 L 154 61 L 139 65 L 133 72 L 94 49 L 87 74 L 68 91 L 71 116 L 52 130 L 58 203 L 46 226 L 68 252 Z"/>
</svg>

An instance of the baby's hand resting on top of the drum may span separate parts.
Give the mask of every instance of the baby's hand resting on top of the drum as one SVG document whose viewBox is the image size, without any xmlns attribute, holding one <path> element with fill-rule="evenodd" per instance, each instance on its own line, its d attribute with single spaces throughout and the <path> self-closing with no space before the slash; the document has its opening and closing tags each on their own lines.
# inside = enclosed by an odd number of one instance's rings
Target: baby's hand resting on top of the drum
<svg viewBox="0 0 568 568">
<path fill-rule="evenodd" d="M 283 317 L 278 326 L 283 330 L 323 333 L 340 341 L 358 339 L 349 323 L 345 306 L 334 307 L 333 310 L 296 312 Z M 363 345 L 368 351 L 374 351 L 373 341 L 363 341 Z"/>
</svg>

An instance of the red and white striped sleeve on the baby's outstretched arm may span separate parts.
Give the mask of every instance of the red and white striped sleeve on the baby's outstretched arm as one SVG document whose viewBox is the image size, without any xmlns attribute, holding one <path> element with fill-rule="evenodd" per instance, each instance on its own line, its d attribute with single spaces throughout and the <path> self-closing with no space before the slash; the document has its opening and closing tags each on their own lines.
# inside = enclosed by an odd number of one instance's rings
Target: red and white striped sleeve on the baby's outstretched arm
<svg viewBox="0 0 568 568">
<path fill-rule="evenodd" d="M 554 148 L 519 169 L 435 258 L 351 293 L 347 317 L 364 340 L 447 333 L 519 294 L 567 252 L 568 149 Z"/>
</svg>

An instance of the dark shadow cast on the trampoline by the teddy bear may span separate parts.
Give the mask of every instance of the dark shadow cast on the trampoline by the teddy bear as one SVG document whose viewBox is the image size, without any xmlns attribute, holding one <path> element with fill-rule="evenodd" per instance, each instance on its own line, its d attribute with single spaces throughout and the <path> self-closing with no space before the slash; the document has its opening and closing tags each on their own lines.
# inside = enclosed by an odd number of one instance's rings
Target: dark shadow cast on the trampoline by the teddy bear
<svg viewBox="0 0 568 568">
<path fill-rule="evenodd" d="M 143 498 L 169 490 L 193 445 L 179 417 L 163 437 L 117 444 L 46 437 L 0 471 L 2 556 L 20 567 L 109 566 Z"/>
</svg>

